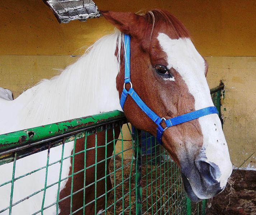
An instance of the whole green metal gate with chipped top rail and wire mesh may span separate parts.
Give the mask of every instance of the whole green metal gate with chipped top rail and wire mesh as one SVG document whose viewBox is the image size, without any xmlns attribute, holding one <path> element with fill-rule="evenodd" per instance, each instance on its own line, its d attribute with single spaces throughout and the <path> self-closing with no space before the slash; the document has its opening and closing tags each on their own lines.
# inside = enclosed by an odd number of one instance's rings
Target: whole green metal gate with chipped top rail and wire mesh
<svg viewBox="0 0 256 215">
<path fill-rule="evenodd" d="M 223 88 L 224 85 L 211 91 L 219 113 Z M 124 137 L 122 126 L 127 126 L 128 138 Z M 115 137 L 115 133 L 118 132 L 120 132 L 119 137 Z M 94 145 L 90 146 L 89 140 L 91 142 L 92 139 Z M 149 134 L 146 134 L 146 139 L 150 142 L 156 141 Z M 127 142 L 133 144 L 127 147 Z M 71 154 L 65 156 L 64 150 L 67 144 L 73 144 L 74 149 Z M 116 149 L 118 144 L 121 151 Z M 0 165 L 6 163 L 12 165 L 10 178 L 4 182 L 0 180 L 0 189 L 4 186 L 10 187 L 10 195 L 5 196 L 8 204 L 0 207 L 0 214 L 20 214 L 19 211 L 17 212 L 18 205 L 36 195 L 42 196 L 42 202 L 32 214 L 48 214 L 47 210 L 50 209 L 58 214 L 59 206 L 63 202 L 69 205 L 67 214 L 77 212 L 88 214 L 88 208 L 91 214 L 95 215 L 100 209 L 101 214 L 204 214 L 205 201 L 191 204 L 183 190 L 180 169 L 168 152 L 159 144 L 150 145 L 154 145 L 146 148 L 150 153 L 141 155 L 140 130 L 135 130 L 132 134 L 124 114 L 120 111 L 0 135 Z M 60 159 L 50 162 L 51 151 L 56 147 L 60 149 Z M 108 148 L 111 147 L 113 153 L 109 154 Z M 38 152 L 47 152 L 45 165 L 16 176 L 19 160 Z M 125 153 L 130 153 L 129 159 L 124 159 Z M 93 163 L 89 163 L 92 154 Z M 85 162 L 80 169 L 77 169 L 73 164 L 79 156 Z M 66 160 L 72 165 L 68 176 L 62 177 L 62 164 Z M 108 162 L 110 171 L 107 170 Z M 59 171 L 55 172 L 58 180 L 49 184 L 49 178 L 52 177 L 49 175 L 49 169 L 56 164 L 59 165 Z M 39 171 L 44 171 L 44 185 L 36 192 L 14 201 L 15 184 Z M 94 172 L 94 175 L 89 175 L 90 172 Z M 5 173 L 1 172 L 1 174 Z M 83 179 L 80 187 L 75 184 L 78 176 Z M 110 190 L 108 177 L 111 177 L 112 181 Z M 60 187 L 65 180 L 70 183 L 70 188 L 68 194 L 63 196 L 60 195 Z M 57 187 L 56 201 L 47 204 L 47 191 L 54 186 Z M 83 200 L 80 206 L 76 205 L 78 195 Z"/>
</svg>

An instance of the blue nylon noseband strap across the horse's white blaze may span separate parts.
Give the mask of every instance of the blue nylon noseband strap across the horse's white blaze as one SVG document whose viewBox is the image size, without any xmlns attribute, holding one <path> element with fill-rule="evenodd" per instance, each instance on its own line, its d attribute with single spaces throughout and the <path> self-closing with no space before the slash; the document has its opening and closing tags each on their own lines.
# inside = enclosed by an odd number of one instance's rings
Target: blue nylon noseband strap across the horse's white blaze
<svg viewBox="0 0 256 215">
<path fill-rule="evenodd" d="M 166 123 L 167 127 L 171 127 L 173 125 L 178 125 L 178 124 L 181 124 L 181 123 L 185 123 L 187 121 L 197 119 L 197 118 L 200 118 L 202 116 L 209 115 L 209 114 L 218 114 L 218 111 L 217 111 L 215 106 L 203 108 L 203 109 L 196 110 L 196 111 L 193 111 L 193 112 L 190 112 L 190 113 L 187 113 L 187 114 L 176 116 L 172 119 L 167 119 L 165 121 L 165 123 Z"/>
</svg>

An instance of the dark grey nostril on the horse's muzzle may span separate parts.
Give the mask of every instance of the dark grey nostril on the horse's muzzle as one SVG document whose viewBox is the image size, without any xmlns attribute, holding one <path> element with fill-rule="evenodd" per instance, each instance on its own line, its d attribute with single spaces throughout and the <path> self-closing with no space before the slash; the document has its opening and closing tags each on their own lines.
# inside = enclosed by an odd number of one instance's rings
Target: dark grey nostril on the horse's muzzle
<svg viewBox="0 0 256 215">
<path fill-rule="evenodd" d="M 196 167 L 208 181 L 216 181 L 220 177 L 220 169 L 215 163 L 197 160 Z"/>
</svg>

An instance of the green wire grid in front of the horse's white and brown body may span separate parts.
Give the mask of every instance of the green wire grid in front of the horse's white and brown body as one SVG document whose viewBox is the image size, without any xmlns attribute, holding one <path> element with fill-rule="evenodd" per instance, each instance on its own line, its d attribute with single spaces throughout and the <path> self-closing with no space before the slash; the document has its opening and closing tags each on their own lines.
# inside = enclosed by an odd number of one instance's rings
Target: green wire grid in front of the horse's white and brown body
<svg viewBox="0 0 256 215">
<path fill-rule="evenodd" d="M 107 162 L 110 161 L 110 159 L 114 159 L 114 163 L 115 163 L 115 156 L 118 156 L 118 155 L 121 155 L 123 154 L 125 151 L 128 151 L 128 150 L 132 150 L 132 148 L 128 148 L 126 150 L 122 150 L 122 152 L 118 152 L 118 153 L 115 153 L 115 144 L 118 140 L 120 140 L 122 142 L 122 145 L 125 141 L 131 141 L 131 139 L 129 140 L 125 140 L 125 139 L 113 139 L 111 140 L 110 142 L 107 142 L 107 132 L 111 130 L 112 128 L 112 132 L 113 134 L 112 135 L 115 135 L 115 130 L 114 128 L 118 128 L 120 131 L 121 131 L 121 126 L 122 126 L 122 121 L 119 121 L 118 123 L 113 123 L 113 124 L 108 124 L 105 126 L 105 128 L 102 128 L 102 126 L 99 125 L 98 128 L 93 128 L 92 130 L 87 130 L 85 132 L 82 132 L 82 133 L 79 133 L 79 134 L 76 134 L 74 135 L 74 141 L 73 141 L 73 150 L 72 150 L 72 153 L 71 155 L 69 156 L 64 156 L 64 149 L 65 149 L 65 145 L 67 143 L 70 143 L 70 138 L 67 138 L 65 140 L 63 140 L 62 143 L 60 143 L 61 145 L 59 145 L 59 147 L 61 147 L 61 159 L 58 159 L 57 161 L 55 162 L 52 162 L 52 163 L 49 163 L 49 158 L 50 158 L 50 154 L 51 154 L 51 146 L 52 144 L 51 143 L 48 143 L 48 150 L 47 150 L 47 158 L 46 158 L 46 165 L 45 166 L 42 166 L 38 169 L 34 169 L 33 171 L 31 172 L 27 172 L 21 176 L 18 176 L 18 177 L 15 177 L 15 170 L 16 170 L 16 161 L 17 161 L 17 153 L 15 153 L 14 155 L 14 162 L 13 163 L 13 173 L 12 173 L 12 177 L 11 177 L 11 180 L 9 181 L 6 181 L 2 184 L 0 184 L 0 188 L 3 187 L 3 186 L 6 186 L 8 184 L 11 184 L 11 188 L 10 188 L 10 204 L 9 206 L 6 206 L 4 209 L 0 209 L 0 213 L 2 212 L 5 212 L 6 214 L 11 214 L 12 212 L 12 209 L 15 207 L 15 205 L 18 205 L 20 204 L 21 202 L 23 201 L 26 201 L 27 199 L 41 193 L 42 194 L 42 207 L 35 211 L 33 214 L 39 214 L 39 213 L 43 213 L 45 210 L 47 210 L 49 207 L 56 207 L 56 214 L 58 214 L 58 210 L 59 210 L 59 204 L 60 202 L 64 201 L 64 200 L 67 200 L 70 202 L 70 214 L 75 214 L 76 212 L 78 211 L 83 211 L 83 214 L 85 213 L 85 209 L 88 205 L 90 204 L 94 204 L 95 205 L 95 209 L 97 209 L 97 201 L 104 197 L 106 200 L 107 200 L 107 196 L 108 194 L 112 191 L 112 190 L 115 190 L 114 188 L 112 188 L 110 191 L 106 191 L 104 192 L 103 195 L 101 196 L 97 196 L 97 183 L 101 182 L 101 181 L 106 181 L 107 177 L 110 176 L 110 175 L 115 175 L 115 172 L 116 170 L 114 169 L 113 172 L 110 172 L 108 173 L 107 169 L 105 169 L 104 171 L 104 175 L 103 177 L 100 177 L 98 178 L 97 176 L 97 167 L 99 165 L 102 166 L 103 164 L 103 167 L 105 167 L 105 165 L 107 165 Z M 105 140 L 104 141 L 104 144 L 102 145 L 102 143 L 100 145 L 97 145 L 97 136 L 98 136 L 98 132 L 97 131 L 101 131 L 103 130 L 102 132 L 105 133 L 106 137 L 105 137 Z M 88 145 L 87 145 L 87 138 L 90 137 L 91 135 L 95 135 L 95 145 L 93 147 L 89 147 L 88 148 Z M 122 136 L 122 131 L 121 131 L 121 136 Z M 84 149 L 82 151 L 78 151 L 76 152 L 76 142 L 79 138 L 82 138 L 82 137 L 85 137 L 85 140 L 84 140 Z M 72 139 L 72 138 L 71 138 Z M 113 145 L 113 148 L 114 148 L 114 154 L 112 156 L 108 156 L 107 157 L 107 148 L 110 146 L 110 145 Z M 97 157 L 97 151 L 102 151 L 104 150 L 104 156 L 101 158 L 101 160 L 98 161 L 98 157 Z M 87 160 L 87 154 L 90 153 L 92 154 L 92 152 L 95 154 L 95 163 L 91 164 L 91 165 L 87 165 L 86 162 L 84 162 L 84 168 L 80 169 L 79 171 L 74 171 L 74 165 L 71 166 L 71 174 L 69 174 L 68 176 L 66 177 L 62 177 L 62 164 L 65 160 L 67 159 L 71 159 L 71 163 L 73 164 L 74 163 L 74 160 L 75 160 L 75 157 L 78 156 L 79 154 L 84 154 L 84 161 Z M 60 164 L 60 168 L 59 168 L 59 173 L 56 173 L 59 177 L 59 180 L 58 181 L 55 181 L 54 183 L 51 183 L 50 185 L 47 185 L 47 179 L 48 179 L 48 168 L 59 163 Z M 2 163 L 3 164 L 3 163 Z M 86 164 L 86 165 L 85 165 Z M 127 165 L 126 165 L 127 166 Z M 124 168 L 124 166 L 122 165 L 121 168 Z M 32 174 L 35 174 L 39 171 L 41 171 L 42 169 L 45 170 L 45 183 L 44 183 L 44 186 L 39 189 L 38 191 L 34 192 L 34 193 L 31 193 L 29 194 L 28 196 L 25 196 L 24 198 L 22 199 L 19 199 L 18 201 L 14 201 L 13 202 L 13 191 L 14 191 L 14 187 L 15 187 L 15 183 L 17 183 L 17 181 L 21 180 L 21 179 L 24 179 L 25 177 L 28 177 Z M 120 169 L 120 168 L 119 168 Z M 117 169 L 117 170 L 119 170 Z M 92 182 L 87 182 L 86 180 L 86 171 L 94 171 L 95 170 L 95 177 L 94 177 L 94 181 Z M 74 177 L 75 176 L 78 176 L 79 174 L 84 174 L 84 186 L 82 186 L 81 188 L 79 189 L 74 189 Z M 61 182 L 65 181 L 65 180 L 68 180 L 69 178 L 71 178 L 71 187 L 70 187 L 70 194 L 61 198 L 60 197 L 60 184 Z M 129 178 L 128 178 L 129 179 Z M 127 181 L 127 178 L 125 179 Z M 36 183 L 36 182 L 35 182 Z M 46 191 L 47 189 L 50 189 L 51 187 L 57 185 L 58 186 L 58 192 L 57 192 L 57 200 L 56 202 L 53 202 L 52 204 L 50 205 L 45 205 L 45 197 L 46 197 Z M 86 190 L 90 190 L 90 192 L 92 192 L 92 187 L 95 187 L 94 191 L 95 192 L 95 195 L 93 197 L 93 199 L 90 201 L 90 202 L 87 202 L 86 201 L 86 195 L 85 195 L 85 191 Z M 76 194 L 83 194 L 83 198 L 84 198 L 84 204 L 82 207 L 80 208 L 74 208 L 73 207 L 73 196 L 76 195 Z M 8 198 L 8 196 L 6 196 Z M 107 207 L 106 209 L 109 209 L 111 206 Z M 97 212 L 94 212 L 93 211 L 93 214 L 96 214 Z M 17 211 L 14 212 L 14 214 L 17 214 Z"/>
</svg>

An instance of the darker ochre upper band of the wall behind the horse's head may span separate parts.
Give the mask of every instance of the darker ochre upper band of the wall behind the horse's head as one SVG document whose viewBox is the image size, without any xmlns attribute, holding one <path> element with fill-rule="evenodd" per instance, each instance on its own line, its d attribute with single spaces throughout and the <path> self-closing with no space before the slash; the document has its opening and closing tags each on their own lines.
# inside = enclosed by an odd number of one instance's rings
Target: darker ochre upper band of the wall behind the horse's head
<svg viewBox="0 0 256 215">
<path fill-rule="evenodd" d="M 2 0 L 3 1 L 3 0 Z M 256 55 L 255 0 L 95 0 L 99 9 L 163 8 L 190 31 L 203 56 Z M 103 17 L 59 24 L 42 0 L 4 1 L 0 55 L 69 55 L 113 29 Z"/>
</svg>

